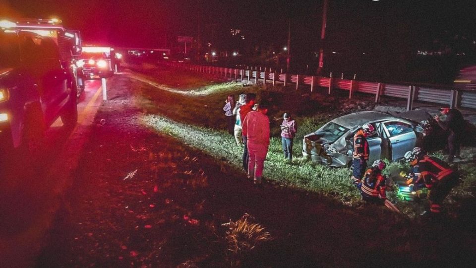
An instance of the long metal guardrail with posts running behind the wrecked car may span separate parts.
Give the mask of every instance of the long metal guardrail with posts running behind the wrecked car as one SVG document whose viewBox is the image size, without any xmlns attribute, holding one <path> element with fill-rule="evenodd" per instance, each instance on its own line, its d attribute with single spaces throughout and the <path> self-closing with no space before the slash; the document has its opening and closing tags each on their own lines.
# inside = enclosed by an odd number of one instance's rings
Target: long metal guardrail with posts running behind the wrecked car
<svg viewBox="0 0 476 268">
<path fill-rule="evenodd" d="M 380 100 L 380 96 L 388 96 L 407 100 L 407 109 L 413 108 L 415 100 L 437 104 L 448 104 L 450 107 L 464 107 L 476 109 L 476 91 L 456 90 L 453 88 L 431 88 L 417 87 L 398 84 L 384 84 L 379 82 L 357 81 L 349 79 L 339 79 L 332 77 L 310 76 L 302 74 L 289 74 L 278 71 L 272 72 L 271 69 L 255 70 L 215 67 L 215 66 L 198 66 L 186 63 L 168 62 L 168 66 L 192 70 L 197 72 L 216 74 L 225 77 L 234 77 L 241 80 L 247 80 L 263 83 L 275 82 L 283 83 L 285 86 L 289 83 L 295 84 L 296 89 L 301 85 L 310 85 L 311 91 L 316 87 L 325 87 L 328 94 L 332 94 L 333 88 L 349 91 L 349 98 L 352 98 L 355 92 L 375 95 L 375 102 Z"/>
</svg>

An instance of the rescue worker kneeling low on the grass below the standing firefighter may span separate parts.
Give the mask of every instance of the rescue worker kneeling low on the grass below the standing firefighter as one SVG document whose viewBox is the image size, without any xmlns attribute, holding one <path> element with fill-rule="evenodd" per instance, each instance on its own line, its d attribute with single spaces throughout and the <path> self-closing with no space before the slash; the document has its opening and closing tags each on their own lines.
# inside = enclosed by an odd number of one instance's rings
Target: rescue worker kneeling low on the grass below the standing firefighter
<svg viewBox="0 0 476 268">
<path fill-rule="evenodd" d="M 362 181 L 357 184 L 363 201 L 375 204 L 385 203 L 387 199 L 385 192 L 386 178 L 382 175 L 382 170 L 386 166 L 384 161 L 375 160 L 372 167 L 365 171 Z"/>
</svg>

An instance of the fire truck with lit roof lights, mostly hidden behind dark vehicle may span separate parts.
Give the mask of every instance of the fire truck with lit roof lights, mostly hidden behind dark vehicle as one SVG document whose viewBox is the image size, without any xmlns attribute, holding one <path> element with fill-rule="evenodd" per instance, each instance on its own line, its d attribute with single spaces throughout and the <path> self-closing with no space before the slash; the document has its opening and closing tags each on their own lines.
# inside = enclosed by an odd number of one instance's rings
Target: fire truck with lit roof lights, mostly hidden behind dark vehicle
<svg viewBox="0 0 476 268">
<path fill-rule="evenodd" d="M 62 21 L 53 19 L 16 19 L 11 21 L 11 30 L 32 32 L 49 37 L 55 41 L 60 50 L 62 63 L 69 63 L 77 85 L 77 95 L 84 90 L 84 82 L 78 76 L 77 62 L 81 56 L 81 34 L 76 30 L 65 29 Z"/>
</svg>

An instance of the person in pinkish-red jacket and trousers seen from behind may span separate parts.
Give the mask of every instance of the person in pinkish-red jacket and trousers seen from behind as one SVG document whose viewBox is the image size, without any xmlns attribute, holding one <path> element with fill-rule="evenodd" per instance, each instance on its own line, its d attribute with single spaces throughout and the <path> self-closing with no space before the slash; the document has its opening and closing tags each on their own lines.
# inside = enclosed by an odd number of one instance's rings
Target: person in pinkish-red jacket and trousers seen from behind
<svg viewBox="0 0 476 268">
<path fill-rule="evenodd" d="M 269 146 L 268 105 L 261 103 L 256 111 L 249 112 L 241 123 L 248 147 L 248 176 L 253 176 L 254 184 L 261 184 L 264 160 Z"/>
</svg>

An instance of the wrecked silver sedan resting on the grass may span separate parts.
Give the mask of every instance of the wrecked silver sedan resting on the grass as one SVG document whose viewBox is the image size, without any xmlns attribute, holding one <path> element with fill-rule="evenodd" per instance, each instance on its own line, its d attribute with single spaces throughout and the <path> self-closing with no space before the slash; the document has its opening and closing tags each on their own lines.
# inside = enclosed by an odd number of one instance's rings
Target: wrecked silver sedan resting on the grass
<svg viewBox="0 0 476 268">
<path fill-rule="evenodd" d="M 419 123 L 431 118 L 426 112 L 411 111 L 393 116 L 365 111 L 338 117 L 316 132 L 304 136 L 302 154 L 313 162 L 335 167 L 349 167 L 352 163 L 354 134 L 365 123 L 377 132 L 367 137 L 370 148 L 369 163 L 376 159 L 398 160 L 407 151 L 421 144 L 425 126 Z M 415 120 L 412 120 L 412 119 Z"/>
</svg>

